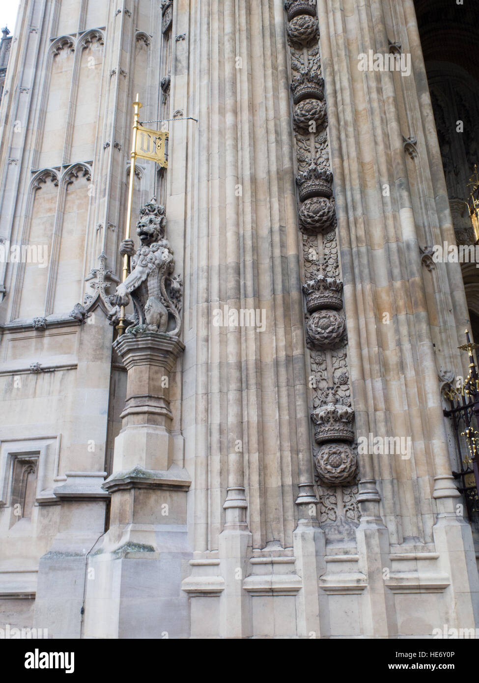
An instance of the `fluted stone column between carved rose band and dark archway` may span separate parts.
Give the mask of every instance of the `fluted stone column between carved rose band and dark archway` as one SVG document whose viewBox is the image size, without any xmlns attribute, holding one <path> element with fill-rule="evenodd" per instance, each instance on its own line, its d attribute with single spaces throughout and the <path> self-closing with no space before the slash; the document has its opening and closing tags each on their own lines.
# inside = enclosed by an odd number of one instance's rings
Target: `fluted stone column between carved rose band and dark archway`
<svg viewBox="0 0 479 683">
<path fill-rule="evenodd" d="M 452 347 L 467 309 L 458 264 L 437 264 L 440 293 L 426 301 L 420 226 L 435 244 L 454 237 L 413 1 L 319 0 L 318 8 L 357 432 L 405 434 L 412 443 L 408 460 L 366 454 L 359 465 L 366 632 L 407 630 L 405 602 L 392 593 L 418 540 L 439 553 L 432 583 L 445 591 L 443 619 L 472 625 L 477 572 L 470 527 L 456 514 L 438 378 L 440 365 L 461 374 Z M 360 53 L 389 55 L 393 46 L 411 57 L 411 74 L 395 81 L 389 70 L 359 70 Z M 417 153 L 409 159 L 411 137 Z M 434 344 L 435 324 L 450 346 Z M 409 583 L 401 593 L 416 590 L 417 579 L 401 581 Z"/>
</svg>

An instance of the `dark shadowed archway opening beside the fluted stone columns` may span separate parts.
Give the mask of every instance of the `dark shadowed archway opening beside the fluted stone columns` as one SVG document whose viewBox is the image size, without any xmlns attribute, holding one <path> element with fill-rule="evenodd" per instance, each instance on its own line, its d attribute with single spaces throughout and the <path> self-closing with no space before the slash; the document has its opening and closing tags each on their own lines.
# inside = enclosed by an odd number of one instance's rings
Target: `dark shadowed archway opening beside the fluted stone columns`
<svg viewBox="0 0 479 683">
<path fill-rule="evenodd" d="M 479 166 L 479 5 L 415 0 L 422 51 L 454 231 L 458 244 L 476 242 L 465 201 Z M 463 264 L 469 316 L 479 339 L 479 269 Z"/>
</svg>

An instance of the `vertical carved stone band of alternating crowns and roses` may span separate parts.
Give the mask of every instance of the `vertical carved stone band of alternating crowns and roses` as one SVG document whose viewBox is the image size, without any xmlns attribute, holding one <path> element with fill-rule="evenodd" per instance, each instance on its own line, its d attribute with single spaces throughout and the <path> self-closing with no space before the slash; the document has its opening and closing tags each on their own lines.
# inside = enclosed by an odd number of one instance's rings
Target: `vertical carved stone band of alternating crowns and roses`
<svg viewBox="0 0 479 683">
<path fill-rule="evenodd" d="M 324 81 L 318 46 L 314 45 L 318 38 L 316 2 L 287 0 L 284 8 L 288 13 L 286 32 L 291 48 L 299 229 L 303 234 L 307 278 L 303 285 L 305 333 L 312 352 L 314 380 L 311 419 L 319 446 L 313 447 L 314 466 L 319 486 L 347 486 L 355 480 L 357 456 L 350 445 L 354 441 L 354 410 L 346 359 L 346 319 L 342 311 Z M 332 496 L 342 501 L 342 495 Z M 336 508 L 334 521 L 341 523 L 344 510 L 339 504 Z"/>
</svg>

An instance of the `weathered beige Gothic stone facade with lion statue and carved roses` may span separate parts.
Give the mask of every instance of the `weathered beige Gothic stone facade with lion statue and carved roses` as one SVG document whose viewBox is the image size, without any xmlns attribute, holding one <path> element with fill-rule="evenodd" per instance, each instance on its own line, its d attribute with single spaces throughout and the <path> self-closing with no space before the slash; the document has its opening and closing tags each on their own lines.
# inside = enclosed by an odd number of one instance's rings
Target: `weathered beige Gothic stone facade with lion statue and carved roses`
<svg viewBox="0 0 479 683">
<path fill-rule="evenodd" d="M 479 628 L 443 412 L 479 279 L 431 257 L 472 239 L 478 90 L 452 42 L 437 59 L 432 6 L 23 0 L 0 104 L 0 622 Z M 125 245 L 137 93 L 168 165 L 137 160 Z"/>
</svg>

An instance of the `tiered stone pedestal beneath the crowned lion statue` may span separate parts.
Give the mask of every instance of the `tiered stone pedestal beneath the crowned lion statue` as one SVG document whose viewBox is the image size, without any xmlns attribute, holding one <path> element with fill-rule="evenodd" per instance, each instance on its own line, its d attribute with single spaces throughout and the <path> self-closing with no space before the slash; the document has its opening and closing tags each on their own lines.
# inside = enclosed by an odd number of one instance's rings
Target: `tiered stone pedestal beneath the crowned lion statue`
<svg viewBox="0 0 479 683">
<path fill-rule="evenodd" d="M 161 333 L 122 335 L 128 370 L 123 428 L 115 439 L 110 527 L 89 557 L 85 637 L 180 638 L 189 634 L 186 470 L 173 462 L 169 373 L 182 349 Z"/>
</svg>

